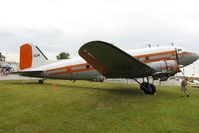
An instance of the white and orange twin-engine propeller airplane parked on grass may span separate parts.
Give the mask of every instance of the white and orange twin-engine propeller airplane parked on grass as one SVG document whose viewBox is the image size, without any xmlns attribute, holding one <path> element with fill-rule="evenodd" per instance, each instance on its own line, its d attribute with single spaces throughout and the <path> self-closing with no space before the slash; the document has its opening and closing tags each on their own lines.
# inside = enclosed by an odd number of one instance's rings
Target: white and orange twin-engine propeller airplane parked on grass
<svg viewBox="0 0 199 133">
<path fill-rule="evenodd" d="M 92 80 L 102 78 L 130 78 L 140 84 L 145 94 L 153 95 L 156 88 L 149 82 L 166 81 L 180 72 L 180 66 L 195 62 L 199 56 L 182 47 L 162 46 L 123 50 L 113 44 L 91 41 L 79 49 L 82 57 L 59 61 L 50 61 L 41 50 L 31 44 L 20 47 L 20 71 L 22 76 L 45 79 Z M 137 78 L 143 78 L 140 83 Z M 147 79 L 145 82 L 144 79 Z"/>
</svg>

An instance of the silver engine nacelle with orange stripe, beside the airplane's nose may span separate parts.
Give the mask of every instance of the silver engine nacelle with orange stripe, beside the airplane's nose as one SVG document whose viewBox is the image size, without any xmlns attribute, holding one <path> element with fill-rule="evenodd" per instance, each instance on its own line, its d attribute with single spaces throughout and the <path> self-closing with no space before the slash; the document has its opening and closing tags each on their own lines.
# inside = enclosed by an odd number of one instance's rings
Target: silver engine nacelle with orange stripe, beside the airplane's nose
<svg viewBox="0 0 199 133">
<path fill-rule="evenodd" d="M 148 63 L 147 65 L 149 65 L 156 71 L 152 75 L 153 79 L 160 79 L 160 81 L 166 81 L 169 78 L 169 76 L 174 76 L 179 70 L 177 62 L 174 60 L 157 61 Z"/>
</svg>

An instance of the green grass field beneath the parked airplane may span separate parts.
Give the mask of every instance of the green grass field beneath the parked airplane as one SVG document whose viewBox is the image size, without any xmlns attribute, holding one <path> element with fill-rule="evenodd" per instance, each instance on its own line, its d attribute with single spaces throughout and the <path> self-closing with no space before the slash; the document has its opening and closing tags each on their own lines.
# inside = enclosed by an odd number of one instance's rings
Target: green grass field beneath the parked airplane
<svg viewBox="0 0 199 133">
<path fill-rule="evenodd" d="M 53 88 L 52 84 L 56 86 Z M 199 89 L 144 95 L 138 85 L 0 81 L 0 133 L 199 133 Z"/>
</svg>

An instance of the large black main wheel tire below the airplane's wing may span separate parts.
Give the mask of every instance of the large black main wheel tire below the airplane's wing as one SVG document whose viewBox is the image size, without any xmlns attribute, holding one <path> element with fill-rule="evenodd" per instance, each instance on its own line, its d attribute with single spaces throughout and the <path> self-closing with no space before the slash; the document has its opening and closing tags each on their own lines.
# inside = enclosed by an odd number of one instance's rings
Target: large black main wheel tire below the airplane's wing
<svg viewBox="0 0 199 133">
<path fill-rule="evenodd" d="M 156 88 L 153 84 L 148 84 L 146 82 L 143 82 L 140 85 L 141 90 L 144 91 L 145 94 L 149 94 L 149 95 L 154 95 L 156 93 Z"/>
</svg>

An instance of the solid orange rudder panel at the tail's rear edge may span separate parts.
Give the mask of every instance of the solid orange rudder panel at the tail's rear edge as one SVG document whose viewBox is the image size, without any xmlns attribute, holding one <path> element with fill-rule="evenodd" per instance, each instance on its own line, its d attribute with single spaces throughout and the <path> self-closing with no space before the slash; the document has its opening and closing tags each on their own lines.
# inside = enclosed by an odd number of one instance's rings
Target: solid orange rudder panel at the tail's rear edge
<svg viewBox="0 0 199 133">
<path fill-rule="evenodd" d="M 24 44 L 20 47 L 20 69 L 32 67 L 32 46 Z"/>
</svg>

